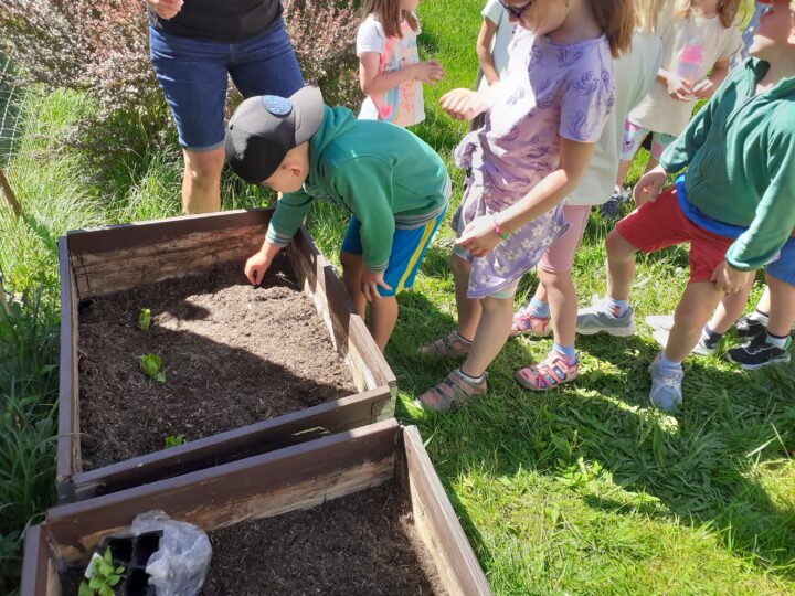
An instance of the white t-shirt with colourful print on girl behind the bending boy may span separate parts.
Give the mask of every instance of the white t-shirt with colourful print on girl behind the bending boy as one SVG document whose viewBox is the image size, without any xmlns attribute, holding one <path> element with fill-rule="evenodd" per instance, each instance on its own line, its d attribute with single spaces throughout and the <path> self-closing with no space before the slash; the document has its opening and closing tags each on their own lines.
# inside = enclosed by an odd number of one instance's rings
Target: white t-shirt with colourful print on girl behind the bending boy
<svg viewBox="0 0 795 596">
<path fill-rule="evenodd" d="M 383 25 L 369 14 L 359 25 L 357 34 L 357 56 L 365 52 L 380 54 L 379 74 L 389 74 L 404 68 L 409 64 L 417 64 L 416 38 L 407 22 L 401 23 L 402 38 L 388 38 Z M 425 119 L 422 82 L 407 81 L 402 85 L 368 96 L 362 104 L 359 118 L 367 120 L 385 120 L 398 126 L 411 126 Z"/>
</svg>

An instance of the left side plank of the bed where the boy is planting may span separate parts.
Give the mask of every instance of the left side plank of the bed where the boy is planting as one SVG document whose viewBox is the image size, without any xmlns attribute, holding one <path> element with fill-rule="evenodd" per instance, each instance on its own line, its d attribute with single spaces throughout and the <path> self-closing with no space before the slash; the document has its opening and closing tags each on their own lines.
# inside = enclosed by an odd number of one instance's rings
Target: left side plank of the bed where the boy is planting
<svg viewBox="0 0 795 596">
<path fill-rule="evenodd" d="M 75 455 L 80 454 L 80 427 L 75 427 L 75 421 L 80 421 L 80 411 L 75 412 L 75 408 L 80 405 L 74 394 L 77 386 L 77 380 L 74 379 L 77 359 L 77 329 L 74 320 L 76 296 L 72 291 L 74 279 L 65 236 L 59 238 L 57 251 L 61 277 L 61 353 L 55 482 L 60 498 L 67 499 L 71 496 L 71 478 L 80 471 L 80 461 L 75 461 Z"/>
</svg>

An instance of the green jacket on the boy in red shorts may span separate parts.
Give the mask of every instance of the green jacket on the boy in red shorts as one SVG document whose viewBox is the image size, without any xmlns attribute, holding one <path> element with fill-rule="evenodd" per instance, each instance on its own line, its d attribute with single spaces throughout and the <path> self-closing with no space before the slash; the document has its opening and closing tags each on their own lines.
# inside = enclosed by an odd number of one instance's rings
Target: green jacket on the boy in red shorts
<svg viewBox="0 0 795 596">
<path fill-rule="evenodd" d="M 727 260 L 741 270 L 763 267 L 795 227 L 795 77 L 754 95 L 767 67 L 755 58 L 735 67 L 660 160 L 670 173 L 689 166 L 685 190 L 696 209 L 686 214 L 736 237 Z"/>
</svg>

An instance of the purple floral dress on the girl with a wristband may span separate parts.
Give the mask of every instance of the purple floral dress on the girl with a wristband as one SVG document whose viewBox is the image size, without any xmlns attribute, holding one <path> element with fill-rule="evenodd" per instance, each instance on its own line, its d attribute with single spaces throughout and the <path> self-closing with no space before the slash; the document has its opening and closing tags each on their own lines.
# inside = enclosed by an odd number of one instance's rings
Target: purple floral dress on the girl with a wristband
<svg viewBox="0 0 795 596">
<path fill-rule="evenodd" d="M 508 70 L 484 127 L 455 150 L 456 163 L 470 170 L 453 217 L 459 234 L 476 217 L 515 204 L 558 169 L 561 137 L 596 142 L 613 109 L 613 57 L 605 36 L 556 44 L 517 28 L 508 53 Z M 488 255 L 470 255 L 468 297 L 484 298 L 513 284 L 568 228 L 559 205 Z"/>
</svg>

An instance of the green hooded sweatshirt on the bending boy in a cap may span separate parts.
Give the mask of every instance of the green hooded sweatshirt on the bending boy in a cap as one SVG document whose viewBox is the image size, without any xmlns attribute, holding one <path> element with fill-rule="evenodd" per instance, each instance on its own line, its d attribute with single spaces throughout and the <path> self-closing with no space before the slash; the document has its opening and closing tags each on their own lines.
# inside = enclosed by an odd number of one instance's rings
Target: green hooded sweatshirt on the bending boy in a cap
<svg viewBox="0 0 795 596">
<path fill-rule="evenodd" d="M 399 126 L 357 120 L 348 108 L 326 106 L 309 141 L 304 188 L 276 205 L 265 240 L 289 244 L 316 199 L 346 207 L 361 222 L 364 266 L 386 268 L 395 228 L 435 220 L 449 198 L 449 177 L 436 152 Z"/>
</svg>

